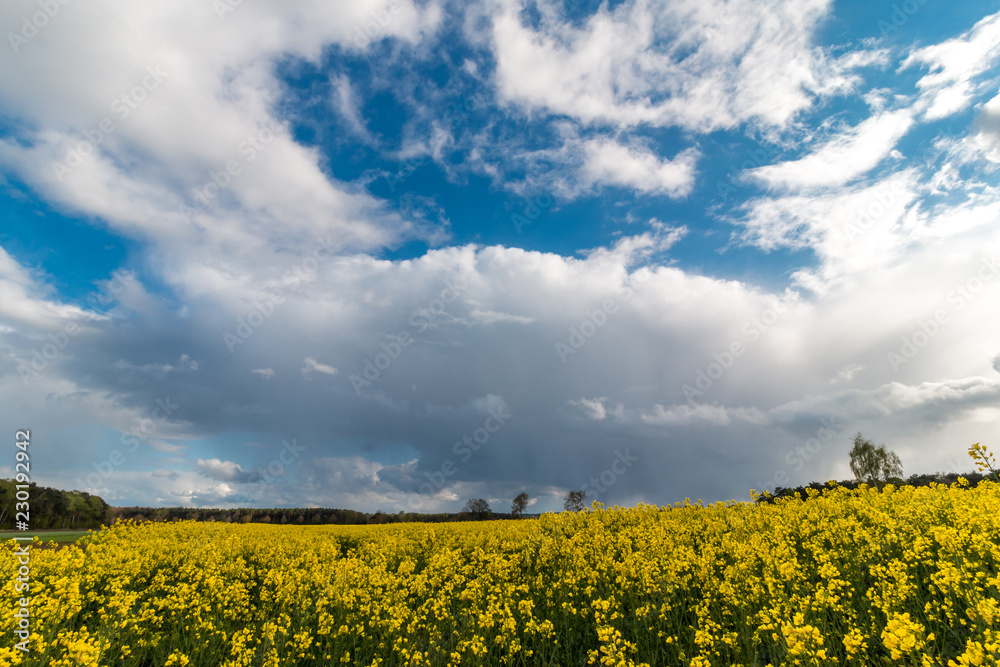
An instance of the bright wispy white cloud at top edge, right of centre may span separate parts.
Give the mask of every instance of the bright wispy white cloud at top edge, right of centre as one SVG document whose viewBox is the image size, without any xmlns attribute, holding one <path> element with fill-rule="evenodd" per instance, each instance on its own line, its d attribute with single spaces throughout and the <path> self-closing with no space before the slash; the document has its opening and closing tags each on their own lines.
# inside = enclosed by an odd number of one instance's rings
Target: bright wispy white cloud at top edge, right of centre
<svg viewBox="0 0 1000 667">
<path fill-rule="evenodd" d="M 636 1 L 602 7 L 579 28 L 541 4 L 536 30 L 522 24 L 516 3 L 502 3 L 492 33 L 500 94 L 619 127 L 783 126 L 814 95 L 849 90 L 849 69 L 878 60 L 831 62 L 814 49 L 830 4 Z"/>
</svg>

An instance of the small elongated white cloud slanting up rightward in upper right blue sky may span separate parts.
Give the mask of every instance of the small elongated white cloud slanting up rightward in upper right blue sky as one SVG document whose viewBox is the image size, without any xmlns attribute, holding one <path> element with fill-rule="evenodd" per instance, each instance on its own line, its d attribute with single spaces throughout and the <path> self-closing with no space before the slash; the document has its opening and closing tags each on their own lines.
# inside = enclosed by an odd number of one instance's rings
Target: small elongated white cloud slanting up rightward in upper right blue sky
<svg viewBox="0 0 1000 667">
<path fill-rule="evenodd" d="M 877 167 L 912 126 L 913 117 L 909 110 L 880 113 L 834 137 L 805 157 L 745 173 L 770 187 L 845 185 Z"/>
</svg>

